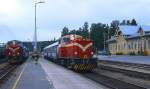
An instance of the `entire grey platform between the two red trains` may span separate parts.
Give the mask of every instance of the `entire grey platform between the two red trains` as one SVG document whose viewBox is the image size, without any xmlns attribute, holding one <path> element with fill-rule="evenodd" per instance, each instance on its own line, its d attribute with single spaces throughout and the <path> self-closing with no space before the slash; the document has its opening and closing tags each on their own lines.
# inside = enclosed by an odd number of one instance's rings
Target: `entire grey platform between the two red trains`
<svg viewBox="0 0 150 89">
<path fill-rule="evenodd" d="M 25 63 L 12 89 L 108 89 L 45 59 Z"/>
</svg>

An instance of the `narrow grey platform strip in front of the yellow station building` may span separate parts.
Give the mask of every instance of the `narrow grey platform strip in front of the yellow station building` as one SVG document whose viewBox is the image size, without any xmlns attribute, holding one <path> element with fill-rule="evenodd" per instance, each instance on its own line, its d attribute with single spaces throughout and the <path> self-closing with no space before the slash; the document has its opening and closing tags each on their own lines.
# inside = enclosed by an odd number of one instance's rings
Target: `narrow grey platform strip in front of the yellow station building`
<svg viewBox="0 0 150 89">
<path fill-rule="evenodd" d="M 119 61 L 119 62 L 137 63 L 137 64 L 150 64 L 150 56 L 98 55 L 98 60 Z"/>
</svg>

